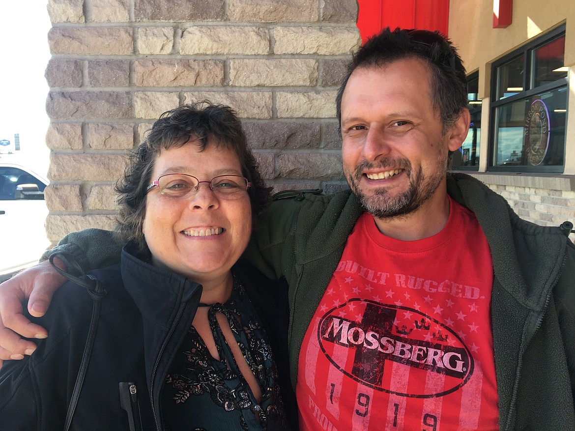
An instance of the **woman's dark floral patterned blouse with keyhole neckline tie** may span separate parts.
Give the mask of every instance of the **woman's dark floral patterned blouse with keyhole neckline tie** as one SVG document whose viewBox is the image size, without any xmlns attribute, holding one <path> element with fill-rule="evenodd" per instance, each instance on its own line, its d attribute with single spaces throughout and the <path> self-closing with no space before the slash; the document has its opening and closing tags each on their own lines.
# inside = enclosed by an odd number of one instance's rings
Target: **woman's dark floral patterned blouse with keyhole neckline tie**
<svg viewBox="0 0 575 431">
<path fill-rule="evenodd" d="M 162 390 L 162 417 L 169 431 L 285 430 L 277 369 L 266 334 L 244 288 L 234 277 L 231 297 L 210 307 L 208 321 L 220 360 L 191 326 Z M 262 397 L 258 402 L 237 367 L 216 313 L 228 320 Z"/>
</svg>

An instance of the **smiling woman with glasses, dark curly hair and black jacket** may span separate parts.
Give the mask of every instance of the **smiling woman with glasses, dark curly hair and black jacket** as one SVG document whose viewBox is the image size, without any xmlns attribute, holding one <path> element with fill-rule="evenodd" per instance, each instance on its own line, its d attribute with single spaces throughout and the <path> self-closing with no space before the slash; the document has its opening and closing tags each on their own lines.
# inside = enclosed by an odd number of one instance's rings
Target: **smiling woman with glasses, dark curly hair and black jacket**
<svg viewBox="0 0 575 431">
<path fill-rule="evenodd" d="M 237 263 L 270 201 L 238 118 L 207 102 L 164 113 L 116 189 L 128 244 L 89 275 L 105 297 L 79 395 L 93 305 L 69 282 L 49 337 L 0 371 L 2 429 L 287 429 L 283 291 Z"/>
</svg>

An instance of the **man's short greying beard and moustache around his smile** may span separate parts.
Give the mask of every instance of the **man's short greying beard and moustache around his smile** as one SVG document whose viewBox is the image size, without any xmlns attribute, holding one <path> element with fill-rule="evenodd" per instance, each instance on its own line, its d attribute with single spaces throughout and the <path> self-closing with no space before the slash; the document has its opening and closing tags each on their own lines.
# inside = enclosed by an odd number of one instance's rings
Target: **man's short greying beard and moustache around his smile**
<svg viewBox="0 0 575 431">
<path fill-rule="evenodd" d="M 367 212 L 375 218 L 399 218 L 418 210 L 435 193 L 447 172 L 447 157 L 440 158 L 443 160 L 439 161 L 438 169 L 432 172 L 431 176 L 424 176 L 421 167 L 417 171 L 413 171 L 411 163 L 406 159 L 384 159 L 377 164 L 363 161 L 355 168 L 353 174 L 350 172 L 345 172 L 345 174 L 351 191 Z M 446 168 L 441 170 L 441 166 Z M 404 170 L 403 173 L 407 175 L 409 181 L 407 190 L 391 197 L 386 188 L 381 188 L 381 190 L 375 190 L 372 195 L 366 196 L 359 188 L 362 172 L 366 169 L 385 169 L 387 167 L 402 168 Z"/>
</svg>

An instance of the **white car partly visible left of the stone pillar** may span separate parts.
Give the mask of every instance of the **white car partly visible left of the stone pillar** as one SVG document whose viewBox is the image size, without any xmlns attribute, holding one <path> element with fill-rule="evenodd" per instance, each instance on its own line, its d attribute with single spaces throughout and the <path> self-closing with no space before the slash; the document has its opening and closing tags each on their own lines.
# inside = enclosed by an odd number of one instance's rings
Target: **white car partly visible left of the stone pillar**
<svg viewBox="0 0 575 431">
<path fill-rule="evenodd" d="M 0 160 L 0 282 L 37 263 L 49 247 L 48 179 L 14 163 Z"/>
</svg>

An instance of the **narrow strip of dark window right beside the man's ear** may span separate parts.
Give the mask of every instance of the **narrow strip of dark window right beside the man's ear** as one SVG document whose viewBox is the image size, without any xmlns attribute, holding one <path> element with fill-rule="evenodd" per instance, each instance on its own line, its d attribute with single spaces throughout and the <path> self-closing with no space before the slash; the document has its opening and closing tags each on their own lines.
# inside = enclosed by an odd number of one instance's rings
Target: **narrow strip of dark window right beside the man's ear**
<svg viewBox="0 0 575 431">
<path fill-rule="evenodd" d="M 451 156 L 451 166 L 457 170 L 477 170 L 479 167 L 479 141 L 481 137 L 479 72 L 467 76 L 467 109 L 471 115 L 469 132 L 461 147 Z"/>
</svg>

